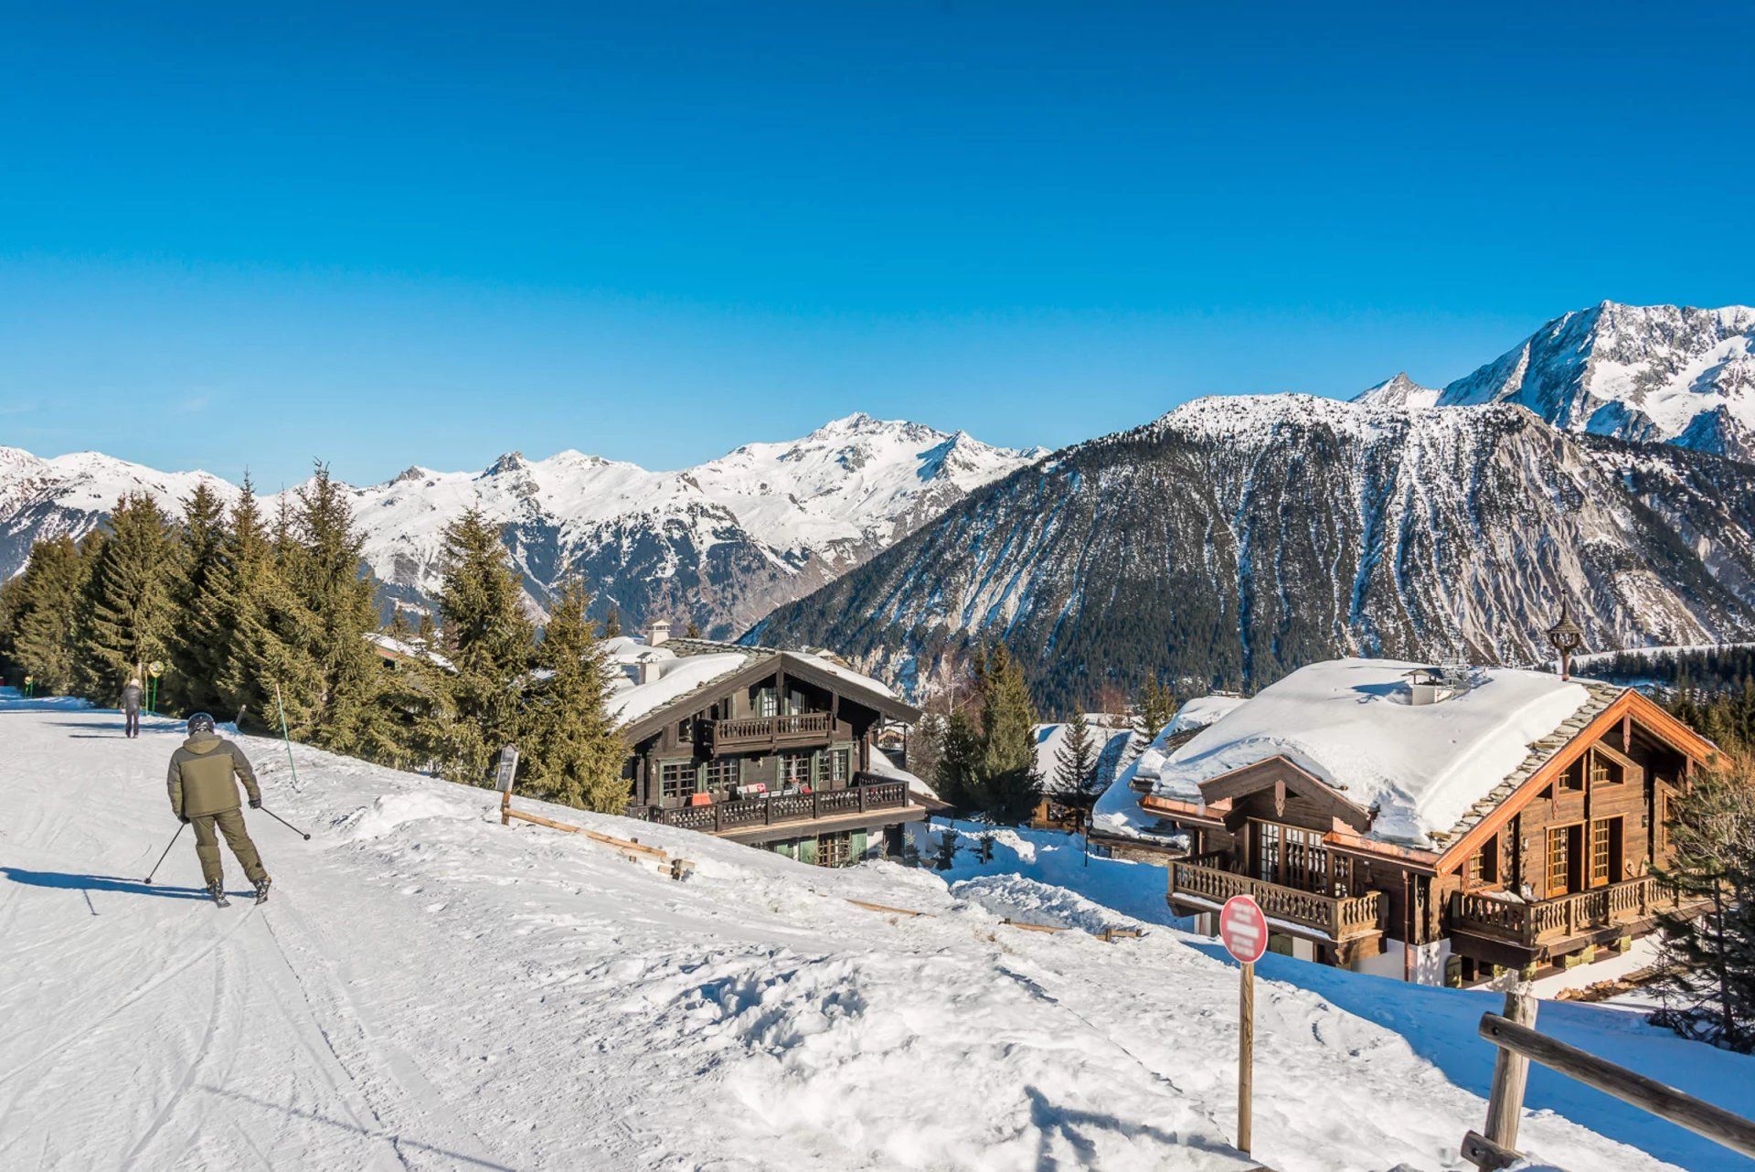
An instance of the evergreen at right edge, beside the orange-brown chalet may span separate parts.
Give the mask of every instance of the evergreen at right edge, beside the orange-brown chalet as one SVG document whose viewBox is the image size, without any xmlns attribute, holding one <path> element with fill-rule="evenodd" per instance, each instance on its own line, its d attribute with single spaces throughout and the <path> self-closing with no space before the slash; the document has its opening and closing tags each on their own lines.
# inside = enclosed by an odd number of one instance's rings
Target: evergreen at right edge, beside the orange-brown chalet
<svg viewBox="0 0 1755 1172">
<path fill-rule="evenodd" d="M 1688 1037 L 1755 1049 L 1755 760 L 1722 756 L 1671 802 L 1671 858 L 1653 867 L 1697 918 L 1665 914 L 1664 1011 Z"/>
</svg>

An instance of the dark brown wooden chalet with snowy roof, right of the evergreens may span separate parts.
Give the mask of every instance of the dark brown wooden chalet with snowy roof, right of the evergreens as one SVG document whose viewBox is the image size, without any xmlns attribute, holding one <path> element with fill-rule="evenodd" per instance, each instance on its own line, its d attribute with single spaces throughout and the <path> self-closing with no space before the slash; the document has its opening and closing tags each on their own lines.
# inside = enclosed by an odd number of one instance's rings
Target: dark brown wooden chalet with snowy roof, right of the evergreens
<svg viewBox="0 0 1755 1172">
<path fill-rule="evenodd" d="M 900 854 L 927 809 L 876 747 L 920 711 L 821 653 L 669 639 L 609 647 L 628 816 L 821 867 Z"/>
</svg>

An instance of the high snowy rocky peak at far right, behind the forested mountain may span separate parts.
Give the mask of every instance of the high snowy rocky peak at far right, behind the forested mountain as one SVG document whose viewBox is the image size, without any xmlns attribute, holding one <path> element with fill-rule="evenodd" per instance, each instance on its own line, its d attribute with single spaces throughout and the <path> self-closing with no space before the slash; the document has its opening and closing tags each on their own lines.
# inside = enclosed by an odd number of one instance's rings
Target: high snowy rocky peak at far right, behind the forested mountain
<svg viewBox="0 0 1755 1172">
<path fill-rule="evenodd" d="M 1602 302 L 1555 318 L 1437 402 L 1511 402 L 1572 432 L 1755 460 L 1755 309 Z"/>
</svg>

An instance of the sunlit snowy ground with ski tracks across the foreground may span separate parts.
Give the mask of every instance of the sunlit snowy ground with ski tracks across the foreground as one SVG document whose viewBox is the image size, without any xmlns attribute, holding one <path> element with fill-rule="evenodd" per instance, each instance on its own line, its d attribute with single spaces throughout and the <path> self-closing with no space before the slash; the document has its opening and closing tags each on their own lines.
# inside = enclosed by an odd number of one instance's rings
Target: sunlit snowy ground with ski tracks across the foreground
<svg viewBox="0 0 1755 1172">
<path fill-rule="evenodd" d="M 181 735 L 0 698 L 4 1168 L 1423 1172 L 1464 1167 L 1485 1119 L 1474 1023 L 1497 995 L 1269 956 L 1243 1156 L 1236 968 L 1116 909 L 1153 918 L 1162 870 L 1049 835 L 1002 832 L 944 875 L 821 870 L 519 798 L 693 860 L 674 881 L 500 826 L 486 790 L 302 746 L 295 784 L 279 742 L 244 737 L 265 805 L 312 840 L 246 811 L 274 895 L 219 909 L 188 835 L 142 883 L 177 830 Z M 1090 935 L 1127 925 L 1146 935 Z M 1611 1005 L 1541 1014 L 1755 1109 L 1748 1058 Z M 1572 1172 L 1751 1167 L 1546 1072 L 1529 1105 L 1522 1146 Z"/>
</svg>

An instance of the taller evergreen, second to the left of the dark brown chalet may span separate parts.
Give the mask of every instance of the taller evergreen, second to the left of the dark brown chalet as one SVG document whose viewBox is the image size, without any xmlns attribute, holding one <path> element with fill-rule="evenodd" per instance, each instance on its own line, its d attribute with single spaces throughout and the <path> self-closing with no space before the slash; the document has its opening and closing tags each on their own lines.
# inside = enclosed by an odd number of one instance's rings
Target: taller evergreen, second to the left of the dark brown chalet
<svg viewBox="0 0 1755 1172">
<path fill-rule="evenodd" d="M 444 775 L 481 784 L 500 746 L 518 740 L 518 686 L 530 670 L 534 630 L 500 533 L 479 509 L 444 532 L 439 614 L 456 674 L 437 739 Z"/>
</svg>

